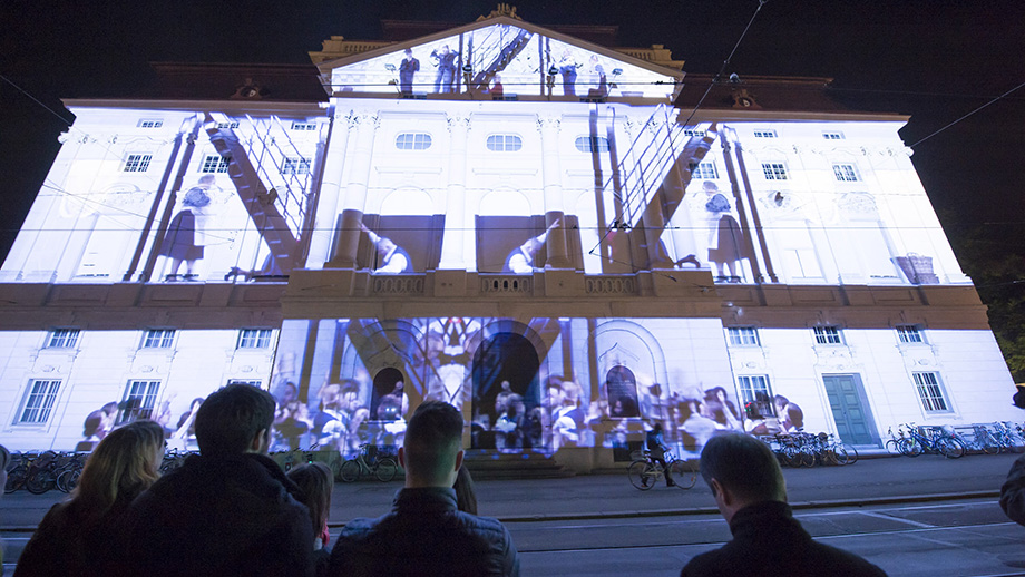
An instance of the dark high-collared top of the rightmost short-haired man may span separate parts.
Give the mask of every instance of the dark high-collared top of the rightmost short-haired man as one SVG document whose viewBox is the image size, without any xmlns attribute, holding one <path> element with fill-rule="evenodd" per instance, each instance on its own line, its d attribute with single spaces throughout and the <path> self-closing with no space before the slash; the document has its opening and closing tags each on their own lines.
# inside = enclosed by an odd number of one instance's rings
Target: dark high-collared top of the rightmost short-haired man
<svg viewBox="0 0 1025 577">
<path fill-rule="evenodd" d="M 691 559 L 680 575 L 752 577 L 886 576 L 855 554 L 811 539 L 785 502 L 767 501 L 736 511 L 733 540 Z"/>
</svg>

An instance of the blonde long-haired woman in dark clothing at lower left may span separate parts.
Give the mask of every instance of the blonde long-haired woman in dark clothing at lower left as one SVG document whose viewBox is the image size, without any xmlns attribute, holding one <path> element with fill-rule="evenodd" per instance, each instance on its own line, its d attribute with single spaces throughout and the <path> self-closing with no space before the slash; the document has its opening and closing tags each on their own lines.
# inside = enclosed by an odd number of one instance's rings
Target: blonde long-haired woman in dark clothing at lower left
<svg viewBox="0 0 1025 577">
<path fill-rule="evenodd" d="M 140 492 L 160 476 L 164 428 L 130 422 L 107 433 L 89 456 L 71 498 L 55 505 L 29 539 L 17 577 L 111 575 L 115 535 Z"/>
</svg>

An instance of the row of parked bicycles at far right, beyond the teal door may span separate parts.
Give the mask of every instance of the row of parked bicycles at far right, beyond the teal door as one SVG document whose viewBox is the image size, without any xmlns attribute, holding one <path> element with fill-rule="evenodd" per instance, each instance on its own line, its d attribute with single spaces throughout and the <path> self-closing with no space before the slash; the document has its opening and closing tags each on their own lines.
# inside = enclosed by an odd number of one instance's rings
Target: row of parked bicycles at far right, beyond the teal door
<svg viewBox="0 0 1025 577">
<path fill-rule="evenodd" d="M 1013 422 L 976 423 L 960 428 L 949 424 L 919 427 L 911 422 L 898 424 L 896 433 L 890 427 L 887 434 L 887 451 L 905 457 L 943 454 L 948 459 L 959 459 L 968 452 L 1025 452 L 1025 431 L 1021 424 Z"/>
</svg>

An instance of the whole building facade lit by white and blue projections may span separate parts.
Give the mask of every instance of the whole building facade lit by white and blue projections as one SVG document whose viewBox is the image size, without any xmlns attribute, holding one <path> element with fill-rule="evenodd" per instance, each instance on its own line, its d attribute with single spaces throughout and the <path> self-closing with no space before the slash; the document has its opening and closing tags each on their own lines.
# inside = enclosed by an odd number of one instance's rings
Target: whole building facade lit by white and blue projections
<svg viewBox="0 0 1025 577">
<path fill-rule="evenodd" d="M 661 46 L 567 30 L 492 14 L 68 100 L 0 268 L 4 442 L 149 417 L 189 447 L 231 382 L 279 399 L 279 447 L 390 444 L 439 399 L 468 446 L 578 470 L 654 421 L 695 450 L 1016 417 L 906 117 L 814 78 L 695 110 L 709 79 Z"/>
</svg>

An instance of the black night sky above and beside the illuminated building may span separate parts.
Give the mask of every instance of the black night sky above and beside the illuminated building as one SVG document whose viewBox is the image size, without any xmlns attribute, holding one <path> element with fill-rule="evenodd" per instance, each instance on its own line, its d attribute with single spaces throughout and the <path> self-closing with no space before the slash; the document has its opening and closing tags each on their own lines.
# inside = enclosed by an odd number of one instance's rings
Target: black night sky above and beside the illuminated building
<svg viewBox="0 0 1025 577">
<path fill-rule="evenodd" d="M 687 72 L 714 74 L 756 0 L 510 2 L 538 26 L 617 25 L 619 46 L 663 43 Z M 469 2 L 183 0 L 0 2 L 0 258 L 42 185 L 71 119 L 61 98 L 130 94 L 148 61 L 309 62 L 332 35 L 378 39 L 381 19 L 468 23 Z M 865 110 L 910 115 L 912 145 L 1025 82 L 1023 0 L 769 0 L 726 74 L 833 78 Z M 1025 254 L 1025 88 L 929 140 L 911 157 L 944 227 L 979 229 Z M 959 252 L 955 242 L 955 252 Z"/>
</svg>

